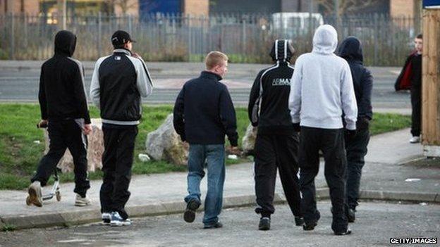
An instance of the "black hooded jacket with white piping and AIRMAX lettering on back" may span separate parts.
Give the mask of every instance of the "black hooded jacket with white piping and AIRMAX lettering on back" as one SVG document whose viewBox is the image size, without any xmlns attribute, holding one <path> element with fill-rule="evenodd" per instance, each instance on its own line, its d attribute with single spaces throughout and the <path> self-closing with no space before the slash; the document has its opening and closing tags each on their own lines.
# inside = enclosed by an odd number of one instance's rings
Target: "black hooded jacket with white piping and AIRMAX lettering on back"
<svg viewBox="0 0 440 247">
<path fill-rule="evenodd" d="M 287 42 L 287 41 L 286 41 Z M 275 42 L 275 43 L 278 43 Z M 283 43 L 280 41 L 279 43 Z M 280 50 L 283 44 L 275 44 Z M 258 126 L 258 134 L 291 134 L 293 124 L 288 98 L 291 91 L 293 67 L 287 62 L 287 51 L 281 51 L 274 60 L 276 64 L 261 70 L 250 90 L 247 113 L 253 126 Z M 262 89 L 262 91 L 261 91 Z M 261 94 L 261 99 L 259 96 Z M 261 101 L 261 102 L 257 102 Z M 255 103 L 260 103 L 258 122 L 252 120 Z"/>
</svg>

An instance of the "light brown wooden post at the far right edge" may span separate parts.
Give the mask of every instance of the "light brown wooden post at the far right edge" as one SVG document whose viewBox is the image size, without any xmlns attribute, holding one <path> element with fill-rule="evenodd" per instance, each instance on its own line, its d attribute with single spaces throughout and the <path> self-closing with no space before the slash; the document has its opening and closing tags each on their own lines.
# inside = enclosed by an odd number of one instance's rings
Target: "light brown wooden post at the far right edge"
<svg viewBox="0 0 440 247">
<path fill-rule="evenodd" d="M 440 157 L 440 8 L 423 11 L 422 144 Z"/>
</svg>

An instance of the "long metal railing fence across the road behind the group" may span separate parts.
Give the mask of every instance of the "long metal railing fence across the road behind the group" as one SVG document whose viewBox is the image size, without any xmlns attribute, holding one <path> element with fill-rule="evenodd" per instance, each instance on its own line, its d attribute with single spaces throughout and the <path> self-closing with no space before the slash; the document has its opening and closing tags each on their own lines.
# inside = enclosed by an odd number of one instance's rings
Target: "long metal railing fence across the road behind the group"
<svg viewBox="0 0 440 247">
<path fill-rule="evenodd" d="M 62 18 L 47 15 L 0 15 L 0 59 L 44 60 Z M 270 14 L 68 16 L 66 28 L 78 36 L 75 58 L 95 60 L 111 52 L 110 37 L 127 30 L 134 51 L 148 61 L 202 61 L 212 50 L 227 53 L 232 63 L 269 63 L 275 39 L 293 39 L 297 56 L 312 49 L 314 29 L 329 23 L 339 40 L 350 35 L 363 44 L 367 65 L 401 65 L 417 34 L 412 18 L 388 15 L 292 18 L 284 25 Z"/>
</svg>

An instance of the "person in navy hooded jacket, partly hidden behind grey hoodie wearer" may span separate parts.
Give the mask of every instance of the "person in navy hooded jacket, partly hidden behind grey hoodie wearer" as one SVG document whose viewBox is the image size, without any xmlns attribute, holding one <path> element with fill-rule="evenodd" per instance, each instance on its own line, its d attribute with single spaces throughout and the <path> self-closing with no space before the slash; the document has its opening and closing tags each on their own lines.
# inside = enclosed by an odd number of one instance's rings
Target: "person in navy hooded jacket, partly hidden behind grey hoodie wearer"
<svg viewBox="0 0 440 247">
<path fill-rule="evenodd" d="M 363 65 L 362 46 L 359 39 L 348 37 L 338 49 L 338 55 L 350 65 L 351 76 L 357 102 L 357 133 L 353 139 L 346 139 L 346 215 L 348 222 L 355 221 L 355 211 L 359 198 L 360 177 L 365 165 L 369 141 L 369 120 L 372 120 L 371 94 L 373 77 Z"/>
</svg>

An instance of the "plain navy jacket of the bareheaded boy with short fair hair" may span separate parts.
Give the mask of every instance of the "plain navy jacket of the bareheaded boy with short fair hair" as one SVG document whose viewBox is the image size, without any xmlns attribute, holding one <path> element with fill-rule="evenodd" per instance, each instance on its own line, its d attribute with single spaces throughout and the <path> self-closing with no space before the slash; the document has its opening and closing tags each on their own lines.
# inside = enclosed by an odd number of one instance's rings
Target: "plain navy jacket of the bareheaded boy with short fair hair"
<svg viewBox="0 0 440 247">
<path fill-rule="evenodd" d="M 236 110 L 221 77 L 203 71 L 189 80 L 178 94 L 173 125 L 183 141 L 190 144 L 224 144 L 225 134 L 231 146 L 237 146 Z"/>
</svg>

